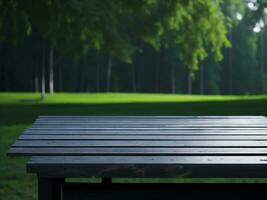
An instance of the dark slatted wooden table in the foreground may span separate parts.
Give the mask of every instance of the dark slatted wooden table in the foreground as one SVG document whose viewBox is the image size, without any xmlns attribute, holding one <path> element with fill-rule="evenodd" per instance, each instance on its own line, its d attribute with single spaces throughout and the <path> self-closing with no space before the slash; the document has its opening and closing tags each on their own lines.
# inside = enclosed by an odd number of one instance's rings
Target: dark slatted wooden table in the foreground
<svg viewBox="0 0 267 200">
<path fill-rule="evenodd" d="M 40 116 L 8 155 L 32 156 L 27 172 L 38 175 L 40 200 L 61 199 L 62 193 L 64 199 L 79 199 L 74 193 L 83 185 L 67 184 L 68 177 L 102 178 L 103 184 L 90 185 L 99 194 L 106 185 L 113 191 L 132 188 L 110 184 L 115 177 L 262 178 L 267 177 L 267 118 Z M 177 190 L 172 187 L 164 191 Z M 150 195 L 155 188 L 164 186 L 153 186 Z"/>
</svg>

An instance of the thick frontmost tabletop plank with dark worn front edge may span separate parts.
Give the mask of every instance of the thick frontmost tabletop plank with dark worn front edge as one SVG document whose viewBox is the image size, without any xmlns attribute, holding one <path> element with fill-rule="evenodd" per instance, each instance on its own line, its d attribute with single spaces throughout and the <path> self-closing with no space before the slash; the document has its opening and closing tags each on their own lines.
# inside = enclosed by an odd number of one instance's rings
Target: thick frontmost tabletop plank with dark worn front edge
<svg viewBox="0 0 267 200">
<path fill-rule="evenodd" d="M 27 172 L 57 177 L 267 177 L 267 156 L 41 156 Z"/>
</svg>

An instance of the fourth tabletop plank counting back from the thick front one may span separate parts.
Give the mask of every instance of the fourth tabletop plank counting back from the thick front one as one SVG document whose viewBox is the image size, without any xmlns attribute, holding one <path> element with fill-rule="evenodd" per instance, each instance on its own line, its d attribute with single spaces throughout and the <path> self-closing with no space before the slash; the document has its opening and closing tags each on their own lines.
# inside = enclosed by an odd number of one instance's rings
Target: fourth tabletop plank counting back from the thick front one
<svg viewBox="0 0 267 200">
<path fill-rule="evenodd" d="M 21 135 L 20 140 L 147 140 L 147 141 L 194 141 L 194 140 L 267 140 L 266 135 Z"/>
</svg>

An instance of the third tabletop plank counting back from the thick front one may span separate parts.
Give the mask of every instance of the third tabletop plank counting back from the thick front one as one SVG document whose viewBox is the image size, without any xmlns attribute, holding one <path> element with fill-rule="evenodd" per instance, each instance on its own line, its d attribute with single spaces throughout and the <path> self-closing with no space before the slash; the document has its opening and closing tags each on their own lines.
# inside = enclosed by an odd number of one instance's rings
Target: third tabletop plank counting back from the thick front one
<svg viewBox="0 0 267 200">
<path fill-rule="evenodd" d="M 25 141 L 12 147 L 267 147 L 267 141 Z"/>
</svg>

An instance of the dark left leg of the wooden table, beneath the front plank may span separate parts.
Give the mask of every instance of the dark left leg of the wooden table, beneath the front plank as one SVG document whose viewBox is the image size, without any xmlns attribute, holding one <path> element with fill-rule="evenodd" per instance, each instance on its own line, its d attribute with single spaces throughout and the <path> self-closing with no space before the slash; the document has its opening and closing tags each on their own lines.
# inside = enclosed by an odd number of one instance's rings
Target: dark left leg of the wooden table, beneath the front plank
<svg viewBox="0 0 267 200">
<path fill-rule="evenodd" d="M 38 177 L 38 200 L 61 200 L 64 178 Z"/>
</svg>

